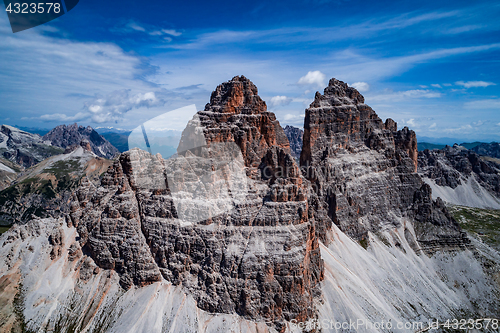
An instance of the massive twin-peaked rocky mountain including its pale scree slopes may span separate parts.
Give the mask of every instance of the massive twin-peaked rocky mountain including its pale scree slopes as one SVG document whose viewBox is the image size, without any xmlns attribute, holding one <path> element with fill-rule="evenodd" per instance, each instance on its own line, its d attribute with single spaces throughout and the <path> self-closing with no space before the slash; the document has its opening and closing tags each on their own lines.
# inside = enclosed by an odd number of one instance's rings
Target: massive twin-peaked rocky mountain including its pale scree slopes
<svg viewBox="0 0 500 333">
<path fill-rule="evenodd" d="M 332 79 L 303 140 L 298 164 L 255 85 L 219 85 L 172 158 L 132 149 L 100 182 L 82 178 L 69 214 L 0 236 L 0 329 L 338 332 L 361 321 L 353 331 L 372 333 L 408 331 L 368 325 L 382 321 L 498 316 L 500 255 L 432 200 L 413 131 Z"/>
</svg>

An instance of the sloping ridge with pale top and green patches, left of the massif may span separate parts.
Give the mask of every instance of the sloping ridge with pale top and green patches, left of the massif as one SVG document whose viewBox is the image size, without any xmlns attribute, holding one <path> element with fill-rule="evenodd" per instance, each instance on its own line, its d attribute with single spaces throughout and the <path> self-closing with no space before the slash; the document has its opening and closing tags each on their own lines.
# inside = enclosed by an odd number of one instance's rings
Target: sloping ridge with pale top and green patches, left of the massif
<svg viewBox="0 0 500 333">
<path fill-rule="evenodd" d="M 82 177 L 98 181 L 112 164 L 97 157 L 90 145 L 68 147 L 64 154 L 49 157 L 16 174 L 0 191 L 2 225 L 26 223 L 33 217 L 59 217 L 69 213 L 69 202 Z"/>
</svg>

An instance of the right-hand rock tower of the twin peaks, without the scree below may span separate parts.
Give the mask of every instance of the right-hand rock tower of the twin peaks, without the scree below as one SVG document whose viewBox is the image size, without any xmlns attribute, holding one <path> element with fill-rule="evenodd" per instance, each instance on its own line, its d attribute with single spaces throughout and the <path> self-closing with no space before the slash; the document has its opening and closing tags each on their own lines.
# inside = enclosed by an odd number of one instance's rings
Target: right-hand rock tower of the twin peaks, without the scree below
<svg viewBox="0 0 500 333">
<path fill-rule="evenodd" d="M 301 166 L 343 232 L 365 241 L 368 232 L 414 221 L 424 250 L 466 246 L 458 224 L 441 202 L 431 200 L 416 173 L 417 154 L 413 131 L 398 131 L 391 119 L 382 122 L 344 82 L 330 80 L 306 109 Z"/>
</svg>

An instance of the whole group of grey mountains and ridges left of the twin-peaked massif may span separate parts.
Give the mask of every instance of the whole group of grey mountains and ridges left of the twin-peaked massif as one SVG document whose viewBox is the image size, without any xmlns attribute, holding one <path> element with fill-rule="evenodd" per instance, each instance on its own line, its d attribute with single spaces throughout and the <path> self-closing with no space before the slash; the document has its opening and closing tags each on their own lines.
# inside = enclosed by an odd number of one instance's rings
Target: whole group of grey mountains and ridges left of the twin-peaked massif
<svg viewBox="0 0 500 333">
<path fill-rule="evenodd" d="M 91 127 L 60 125 L 40 136 L 0 126 L 0 225 L 59 216 L 82 177 L 98 179 L 117 154 Z"/>
</svg>

